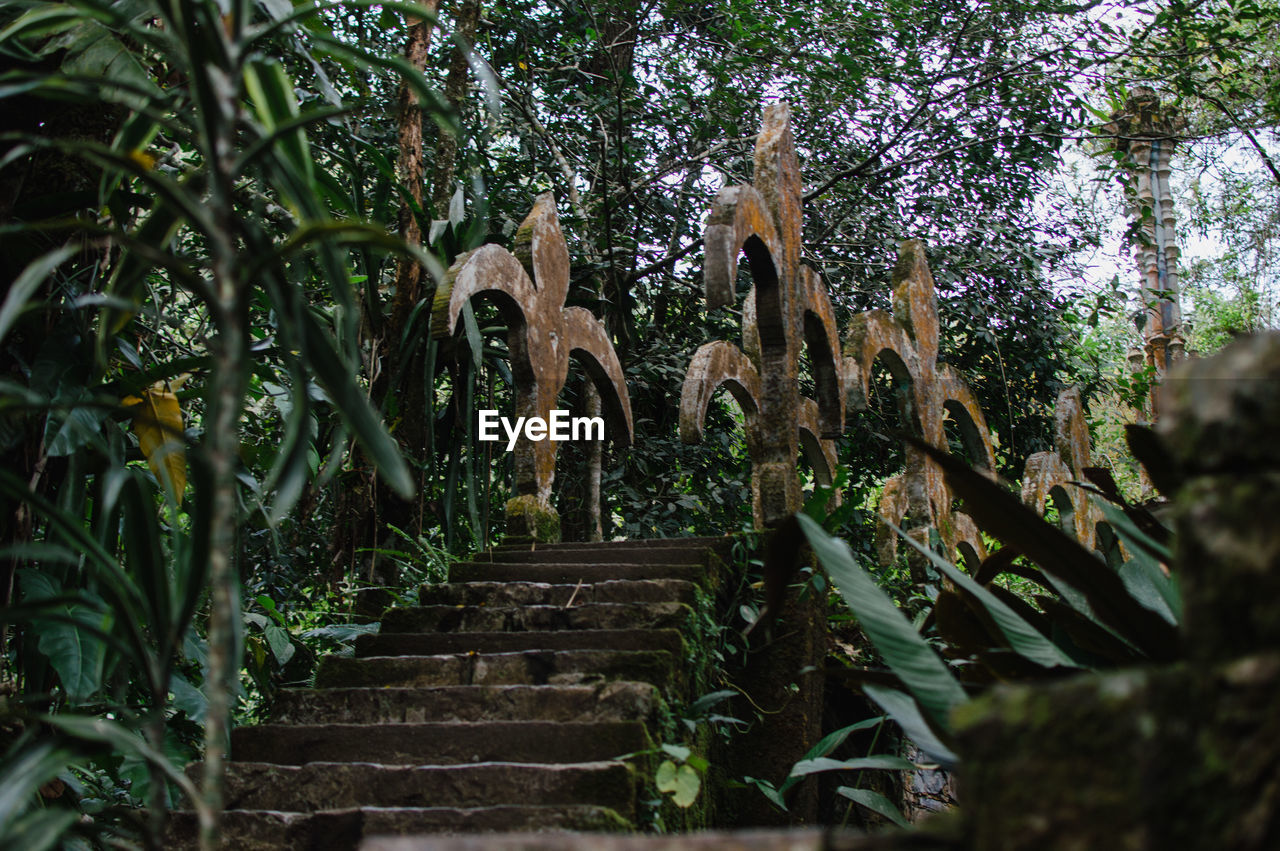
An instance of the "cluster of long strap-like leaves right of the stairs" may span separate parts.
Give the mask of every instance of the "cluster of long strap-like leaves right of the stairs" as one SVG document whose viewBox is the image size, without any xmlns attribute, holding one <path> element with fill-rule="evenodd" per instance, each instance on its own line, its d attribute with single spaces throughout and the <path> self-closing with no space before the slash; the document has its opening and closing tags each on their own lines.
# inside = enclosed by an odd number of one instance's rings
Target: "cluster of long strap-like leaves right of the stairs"
<svg viewBox="0 0 1280 851">
<path fill-rule="evenodd" d="M 1175 658 L 1181 601 L 1167 573 L 1170 534 L 1147 511 L 1124 502 L 1105 471 L 1089 471 L 1101 497 L 1114 500 L 1102 504 L 1106 522 L 1100 523 L 1101 552 L 1089 553 L 1050 518 L 1041 518 L 982 473 L 946 453 L 918 445 L 943 467 L 948 485 L 979 526 L 1006 546 L 970 576 L 893 527 L 946 580 L 924 619 L 932 636 L 905 616 L 842 540 L 808 514 L 796 514 L 795 522 L 900 683 L 888 686 L 873 672 L 863 672 L 863 692 L 924 754 L 943 767 L 955 765 L 951 710 L 984 683 Z M 786 540 L 781 532 L 778 537 Z M 1019 564 L 1019 554 L 1034 567 Z M 1033 584 L 1036 591 L 1029 600 L 996 582 L 1010 572 Z M 858 680 L 858 672 L 851 673 Z M 910 768 L 877 756 L 867 760 L 810 755 L 796 764 L 791 777 L 852 768 Z M 771 800 L 781 802 L 786 787 L 755 783 Z M 891 806 L 888 801 L 874 791 L 842 788 L 838 793 L 895 820 L 884 810 Z"/>
</svg>

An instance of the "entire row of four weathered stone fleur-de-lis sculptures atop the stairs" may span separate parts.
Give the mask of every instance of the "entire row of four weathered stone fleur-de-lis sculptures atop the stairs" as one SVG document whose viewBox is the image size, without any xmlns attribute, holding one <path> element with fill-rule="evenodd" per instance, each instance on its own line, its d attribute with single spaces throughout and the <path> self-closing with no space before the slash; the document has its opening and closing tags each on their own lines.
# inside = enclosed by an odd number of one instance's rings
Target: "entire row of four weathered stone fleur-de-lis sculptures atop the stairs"
<svg viewBox="0 0 1280 851">
<path fill-rule="evenodd" d="M 887 367 L 897 385 L 901 430 L 946 447 L 952 420 L 972 459 L 995 475 L 986 417 L 965 380 L 938 363 L 938 307 L 933 275 L 918 241 L 901 243 L 892 275 L 892 312 L 872 310 L 852 319 L 841 346 L 822 278 L 800 262 L 801 184 L 790 109 L 773 104 L 755 146 L 754 182 L 721 191 L 704 232 L 708 307 L 735 298 L 739 264 L 746 258 L 751 289 L 742 306 L 741 346 L 727 340 L 698 349 L 680 399 L 680 433 L 698 443 L 708 406 L 727 389 L 742 410 L 751 458 L 751 503 L 764 529 L 801 504 L 799 461 L 817 481 L 832 481 L 835 438 L 864 410 L 872 371 Z M 453 333 L 474 297 L 498 306 L 508 325 L 516 415 L 548 418 L 564 386 L 568 362 L 579 360 L 603 402 L 614 441 L 631 441 L 631 407 L 622 369 L 603 325 L 589 311 L 566 307 L 568 248 L 556 203 L 543 195 L 516 235 L 516 251 L 484 246 L 451 266 L 435 294 L 433 329 Z M 808 356 L 814 398 L 800 392 L 801 356 Z M 550 503 L 556 477 L 552 440 L 516 439 L 516 495 L 507 503 L 508 535 L 557 540 L 559 518 Z M 973 521 L 952 509 L 941 470 L 919 449 L 905 447 L 906 467 L 884 485 L 879 512 L 914 536 L 937 530 L 948 552 L 984 557 Z M 1027 462 L 1023 495 L 1043 511 L 1050 495 L 1073 503 L 1076 535 L 1093 540 L 1094 514 L 1073 481 L 1089 463 L 1088 430 L 1079 395 L 1059 399 L 1056 449 Z M 896 558 L 897 540 L 883 529 L 881 557 Z"/>
</svg>

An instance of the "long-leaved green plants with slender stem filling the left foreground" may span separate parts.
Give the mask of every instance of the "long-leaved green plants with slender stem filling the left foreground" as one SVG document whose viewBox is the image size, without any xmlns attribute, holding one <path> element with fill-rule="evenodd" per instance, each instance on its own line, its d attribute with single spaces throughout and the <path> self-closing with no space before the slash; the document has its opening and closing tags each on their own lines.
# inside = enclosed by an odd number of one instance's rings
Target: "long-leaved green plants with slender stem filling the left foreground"
<svg viewBox="0 0 1280 851">
<path fill-rule="evenodd" d="M 134 777 L 132 804 L 150 809 L 151 846 L 170 782 L 211 824 L 220 778 L 206 777 L 197 793 L 170 760 L 195 755 L 191 720 L 204 722 L 206 747 L 225 747 L 242 641 L 251 662 L 266 650 L 285 667 L 296 654 L 271 607 L 257 616 L 266 619 L 251 618 L 257 632 L 244 641 L 239 585 L 252 562 L 239 558 L 242 521 L 247 537 L 255 526 L 278 535 L 323 477 L 325 452 L 324 476 L 333 475 L 347 435 L 402 497 L 415 489 L 353 369 L 351 260 L 398 252 L 429 270 L 439 264 L 333 192 L 310 133 L 330 132 L 351 110 L 311 47 L 353 68 L 407 72 L 428 102 L 433 95 L 402 59 L 379 59 L 324 26 L 301 29 L 317 12 L 95 0 L 13 4 L 3 17 L 5 110 L 47 116 L 5 138 L 4 166 L 76 184 L 19 195 L 0 227 L 6 248 L 17 247 L 6 262 L 26 264 L 0 307 L 8 372 L 22 376 L 6 388 L 4 450 L 20 459 L 23 477 L 5 472 L 0 488 L 27 518 L 0 531 L 42 548 L 10 549 L 29 567 L 22 603 L 5 618 L 35 639 L 22 645 L 18 669 L 31 697 L 54 695 L 58 712 L 44 723 L 56 737 L 125 755 L 87 765 L 124 788 Z M 289 65 L 314 86 L 303 100 Z M 65 127 L 70 115 L 87 116 L 81 125 L 91 132 Z M 189 427 L 169 439 L 192 448 L 186 502 L 182 493 L 166 499 L 133 463 L 118 402 L 182 372 L 195 374 L 182 397 Z M 288 416 L 246 468 L 239 420 L 251 386 L 270 390 Z M 321 421 L 332 450 L 317 447 Z M 192 633 L 205 605 L 207 645 Z M 205 701 L 193 685 L 201 681 Z M 170 733 L 183 745 L 172 756 Z M 137 782 L 131 765 L 147 767 L 150 781 Z"/>
</svg>

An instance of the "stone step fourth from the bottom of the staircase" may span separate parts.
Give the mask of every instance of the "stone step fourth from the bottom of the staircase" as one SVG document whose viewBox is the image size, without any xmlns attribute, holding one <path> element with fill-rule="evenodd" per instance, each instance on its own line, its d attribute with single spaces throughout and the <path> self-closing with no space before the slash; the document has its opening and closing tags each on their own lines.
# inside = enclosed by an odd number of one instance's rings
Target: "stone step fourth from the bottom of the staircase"
<svg viewBox="0 0 1280 851">
<path fill-rule="evenodd" d="M 403 724 L 440 720 L 648 720 L 662 705 L 646 682 L 594 686 L 287 688 L 271 704 L 284 724 Z"/>
</svg>

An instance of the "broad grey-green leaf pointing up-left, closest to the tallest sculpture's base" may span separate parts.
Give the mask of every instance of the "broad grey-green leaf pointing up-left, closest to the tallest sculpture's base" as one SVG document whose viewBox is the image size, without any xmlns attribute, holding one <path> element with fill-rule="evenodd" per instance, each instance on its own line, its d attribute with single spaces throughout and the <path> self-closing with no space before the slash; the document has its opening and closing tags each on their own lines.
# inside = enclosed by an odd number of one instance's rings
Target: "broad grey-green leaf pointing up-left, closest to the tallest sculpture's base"
<svg viewBox="0 0 1280 851">
<path fill-rule="evenodd" d="M 955 674 L 876 580 L 859 567 L 845 541 L 828 535 L 808 514 L 799 513 L 796 518 L 867 637 L 925 712 L 945 726 L 951 709 L 966 699 Z"/>
</svg>

